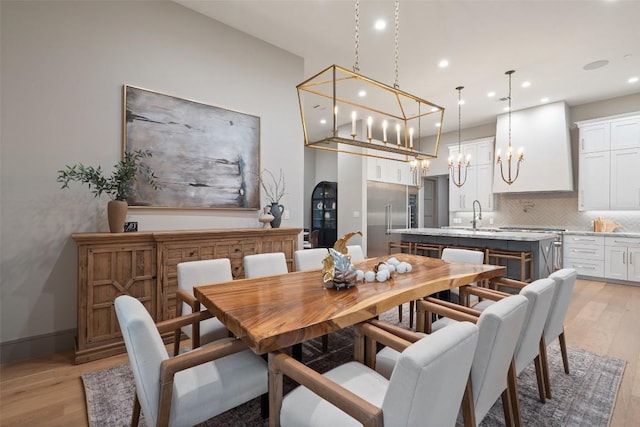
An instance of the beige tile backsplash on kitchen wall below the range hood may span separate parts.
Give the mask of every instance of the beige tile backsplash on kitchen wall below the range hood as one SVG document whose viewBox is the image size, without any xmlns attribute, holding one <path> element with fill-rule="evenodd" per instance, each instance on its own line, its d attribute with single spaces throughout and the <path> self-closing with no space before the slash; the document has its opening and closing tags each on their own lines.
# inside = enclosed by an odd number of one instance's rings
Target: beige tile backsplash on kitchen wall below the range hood
<svg viewBox="0 0 640 427">
<path fill-rule="evenodd" d="M 640 232 L 640 210 L 636 211 L 578 211 L 578 194 L 518 193 L 496 194 L 495 209 L 484 212 L 482 226 L 529 226 L 565 228 L 571 231 L 592 231 L 594 218 L 611 219 L 620 224 L 617 231 Z M 470 212 L 451 214 L 461 218 L 462 225 L 471 220 Z M 490 225 L 491 219 L 493 224 Z"/>
</svg>

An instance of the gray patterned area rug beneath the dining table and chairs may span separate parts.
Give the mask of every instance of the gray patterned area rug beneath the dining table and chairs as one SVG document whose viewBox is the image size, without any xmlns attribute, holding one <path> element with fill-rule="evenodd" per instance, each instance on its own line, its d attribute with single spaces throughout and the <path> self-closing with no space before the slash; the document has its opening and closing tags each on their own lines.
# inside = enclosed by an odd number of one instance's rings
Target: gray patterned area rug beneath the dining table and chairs
<svg viewBox="0 0 640 427">
<path fill-rule="evenodd" d="M 406 306 L 405 304 L 405 311 Z M 408 316 L 403 316 L 405 327 Z M 398 310 L 390 310 L 381 319 L 395 324 Z M 339 331 L 329 336 L 329 351 L 322 353 L 320 339 L 303 346 L 303 360 L 311 368 L 325 372 L 352 359 L 353 332 Z M 571 374 L 566 375 L 557 344 L 549 346 L 549 369 L 553 398 L 538 400 L 533 365 L 518 377 L 520 408 L 525 426 L 607 426 L 620 386 L 625 361 L 586 350 L 568 348 Z M 119 365 L 82 376 L 87 400 L 89 425 L 128 426 L 133 408 L 133 375 L 128 365 Z M 286 380 L 286 378 L 285 378 Z M 285 393 L 295 384 L 285 381 Z M 503 426 L 501 399 L 493 406 L 481 426 Z M 144 417 L 140 426 L 146 426 Z M 260 399 L 254 399 L 203 423 L 202 426 L 267 426 L 260 417 Z"/>
</svg>

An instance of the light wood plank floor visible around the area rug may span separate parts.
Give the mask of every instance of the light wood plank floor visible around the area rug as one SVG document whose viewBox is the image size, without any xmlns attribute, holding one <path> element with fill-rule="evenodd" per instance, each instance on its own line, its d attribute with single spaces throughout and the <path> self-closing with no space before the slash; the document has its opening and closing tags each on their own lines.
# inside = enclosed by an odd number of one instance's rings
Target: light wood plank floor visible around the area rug
<svg viewBox="0 0 640 427">
<path fill-rule="evenodd" d="M 568 345 L 627 361 L 611 426 L 640 420 L 640 287 L 579 280 L 565 318 Z M 80 376 L 125 363 L 126 355 L 73 365 L 72 354 L 56 353 L 3 365 L 0 425 L 87 424 Z"/>
</svg>

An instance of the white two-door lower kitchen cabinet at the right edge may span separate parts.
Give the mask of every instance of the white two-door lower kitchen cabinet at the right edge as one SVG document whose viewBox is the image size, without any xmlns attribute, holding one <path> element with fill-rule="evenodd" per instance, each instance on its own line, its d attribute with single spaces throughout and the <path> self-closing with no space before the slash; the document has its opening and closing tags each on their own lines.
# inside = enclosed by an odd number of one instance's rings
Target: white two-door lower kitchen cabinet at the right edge
<svg viewBox="0 0 640 427">
<path fill-rule="evenodd" d="M 640 238 L 605 238 L 604 277 L 640 282 Z"/>
</svg>

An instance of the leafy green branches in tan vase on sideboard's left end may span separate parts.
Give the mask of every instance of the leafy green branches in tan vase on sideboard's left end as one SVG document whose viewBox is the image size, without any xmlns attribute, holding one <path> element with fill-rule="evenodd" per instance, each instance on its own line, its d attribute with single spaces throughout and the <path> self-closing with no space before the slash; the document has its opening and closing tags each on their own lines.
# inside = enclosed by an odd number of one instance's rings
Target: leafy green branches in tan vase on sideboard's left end
<svg viewBox="0 0 640 427">
<path fill-rule="evenodd" d="M 133 193 L 133 183 L 140 175 L 153 189 L 158 190 L 158 177 L 153 169 L 144 162 L 151 157 L 149 150 L 126 151 L 124 158 L 115 166 L 111 176 L 105 176 L 100 166 L 85 166 L 77 163 L 58 171 L 57 181 L 61 188 L 69 188 L 70 182 L 87 184 L 95 197 L 105 193 L 111 198 L 107 205 L 109 230 L 112 233 L 124 231 L 124 221 L 127 216 L 127 199 Z"/>
</svg>

